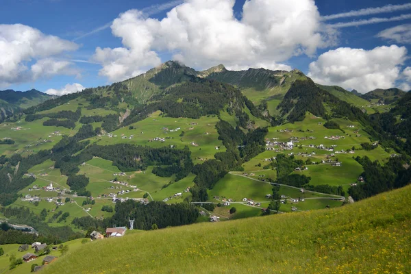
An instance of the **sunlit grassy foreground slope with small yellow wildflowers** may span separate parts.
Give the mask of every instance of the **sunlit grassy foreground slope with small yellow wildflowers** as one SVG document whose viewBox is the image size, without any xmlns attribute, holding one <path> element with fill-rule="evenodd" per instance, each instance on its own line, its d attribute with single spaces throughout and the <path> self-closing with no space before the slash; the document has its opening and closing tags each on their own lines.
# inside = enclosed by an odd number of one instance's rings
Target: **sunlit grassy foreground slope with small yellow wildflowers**
<svg viewBox="0 0 411 274">
<path fill-rule="evenodd" d="M 410 273 L 411 186 L 331 210 L 90 242 L 44 273 Z"/>
</svg>

